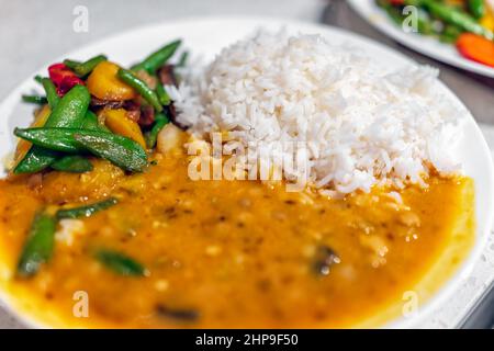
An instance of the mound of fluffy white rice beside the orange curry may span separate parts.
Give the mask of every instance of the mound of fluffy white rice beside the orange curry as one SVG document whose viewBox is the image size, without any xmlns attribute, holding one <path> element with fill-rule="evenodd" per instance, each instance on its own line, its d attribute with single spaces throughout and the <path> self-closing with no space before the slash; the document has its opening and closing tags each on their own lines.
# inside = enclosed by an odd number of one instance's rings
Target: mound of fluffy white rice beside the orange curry
<svg viewBox="0 0 494 351">
<path fill-rule="evenodd" d="M 423 184 L 433 168 L 460 171 L 456 145 L 467 112 L 440 92 L 437 76 L 415 66 L 384 72 L 317 35 L 259 32 L 167 90 L 194 135 L 228 131 L 250 148 L 304 141 L 311 183 L 350 193 Z M 294 157 L 283 148 L 276 160 L 288 179 L 296 174 L 281 160 Z"/>
</svg>

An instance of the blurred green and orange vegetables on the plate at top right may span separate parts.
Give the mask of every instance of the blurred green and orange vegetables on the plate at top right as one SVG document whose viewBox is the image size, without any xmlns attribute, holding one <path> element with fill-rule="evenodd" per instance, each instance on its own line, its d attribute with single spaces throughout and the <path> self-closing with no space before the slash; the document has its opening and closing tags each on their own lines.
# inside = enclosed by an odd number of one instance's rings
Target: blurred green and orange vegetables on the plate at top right
<svg viewBox="0 0 494 351">
<path fill-rule="evenodd" d="M 492 0 L 377 0 L 389 16 L 402 25 L 411 14 L 404 9 L 419 9 L 420 34 L 454 44 L 465 58 L 494 67 L 494 2 Z"/>
</svg>

